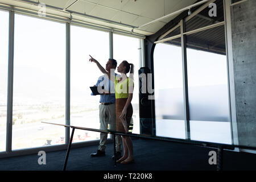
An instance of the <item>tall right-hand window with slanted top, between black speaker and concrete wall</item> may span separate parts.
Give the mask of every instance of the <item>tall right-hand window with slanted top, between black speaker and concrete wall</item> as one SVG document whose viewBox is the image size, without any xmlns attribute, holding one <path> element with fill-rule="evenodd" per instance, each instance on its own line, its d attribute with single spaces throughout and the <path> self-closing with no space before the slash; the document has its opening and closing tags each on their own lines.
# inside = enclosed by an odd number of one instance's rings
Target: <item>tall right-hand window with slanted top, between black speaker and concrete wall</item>
<svg viewBox="0 0 256 182">
<path fill-rule="evenodd" d="M 161 36 L 168 38 L 162 40 L 167 44 L 156 44 L 156 129 L 161 129 L 164 137 L 182 131 L 179 126 L 169 125 L 168 119 L 185 119 L 187 139 L 232 143 L 224 7 L 222 0 L 214 3 L 217 5 L 217 9 L 214 9 L 217 14 L 210 14 L 212 11 L 209 11 L 208 6 L 197 13 L 196 8 L 193 8 L 192 14 L 180 21 L 184 29 L 180 29 L 181 38 L 185 40 L 182 44 L 184 47 L 175 48 L 180 45 L 174 36 L 177 35 L 177 28 Z M 187 114 L 186 117 L 183 113 Z M 161 122 L 159 119 L 162 119 Z M 178 134 L 181 135 L 181 132 Z"/>
</svg>

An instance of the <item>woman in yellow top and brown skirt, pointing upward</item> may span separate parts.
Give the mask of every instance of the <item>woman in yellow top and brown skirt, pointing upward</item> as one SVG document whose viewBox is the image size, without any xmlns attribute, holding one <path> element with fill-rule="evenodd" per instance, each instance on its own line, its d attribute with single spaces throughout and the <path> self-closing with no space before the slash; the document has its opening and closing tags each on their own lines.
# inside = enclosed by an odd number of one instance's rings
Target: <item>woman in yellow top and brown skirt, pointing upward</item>
<svg viewBox="0 0 256 182">
<path fill-rule="evenodd" d="M 129 64 L 127 61 L 122 61 L 117 67 L 117 71 L 121 73 L 121 77 L 112 77 L 100 63 L 92 56 L 89 61 L 97 64 L 100 71 L 110 78 L 115 83 L 115 113 L 116 113 L 116 124 L 117 131 L 127 133 L 128 126 L 130 125 L 131 117 L 133 115 L 133 106 L 131 106 L 131 100 L 133 99 L 133 64 Z M 127 77 L 127 73 L 129 73 Z M 118 163 L 129 164 L 134 162 L 133 156 L 133 142 L 130 137 L 123 136 L 123 156 Z"/>
</svg>

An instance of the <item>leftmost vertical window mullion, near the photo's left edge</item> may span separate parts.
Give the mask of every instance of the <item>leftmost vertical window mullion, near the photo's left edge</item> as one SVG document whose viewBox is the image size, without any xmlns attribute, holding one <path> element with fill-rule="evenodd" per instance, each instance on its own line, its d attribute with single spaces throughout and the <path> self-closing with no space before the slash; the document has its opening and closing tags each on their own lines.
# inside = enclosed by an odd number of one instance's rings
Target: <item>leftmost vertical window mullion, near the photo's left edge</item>
<svg viewBox="0 0 256 182">
<path fill-rule="evenodd" d="M 6 152 L 11 152 L 13 130 L 14 11 L 9 11 L 9 56 L 6 118 Z"/>
</svg>

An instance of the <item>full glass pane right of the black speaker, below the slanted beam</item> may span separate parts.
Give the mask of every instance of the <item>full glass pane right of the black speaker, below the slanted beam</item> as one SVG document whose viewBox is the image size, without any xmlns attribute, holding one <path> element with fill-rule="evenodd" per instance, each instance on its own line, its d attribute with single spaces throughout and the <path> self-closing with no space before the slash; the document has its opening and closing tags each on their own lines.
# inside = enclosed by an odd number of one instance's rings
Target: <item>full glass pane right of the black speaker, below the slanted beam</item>
<svg viewBox="0 0 256 182">
<path fill-rule="evenodd" d="M 175 44 L 159 43 L 154 51 L 156 135 L 184 139 L 182 51 Z"/>
</svg>

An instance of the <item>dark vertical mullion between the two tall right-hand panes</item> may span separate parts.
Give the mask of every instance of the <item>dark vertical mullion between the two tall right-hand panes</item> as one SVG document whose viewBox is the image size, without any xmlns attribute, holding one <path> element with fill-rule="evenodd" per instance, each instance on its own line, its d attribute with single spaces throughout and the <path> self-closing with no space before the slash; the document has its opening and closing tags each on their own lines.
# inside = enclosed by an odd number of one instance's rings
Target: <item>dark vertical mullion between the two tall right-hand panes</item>
<svg viewBox="0 0 256 182">
<path fill-rule="evenodd" d="M 185 120 L 185 137 L 190 140 L 190 125 L 189 125 L 189 107 L 188 107 L 188 71 L 187 71 L 187 47 L 185 30 L 185 21 L 180 21 L 181 33 L 181 49 L 182 49 L 182 67 L 183 67 L 183 98 L 184 98 L 184 120 Z"/>
</svg>

